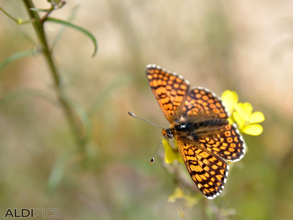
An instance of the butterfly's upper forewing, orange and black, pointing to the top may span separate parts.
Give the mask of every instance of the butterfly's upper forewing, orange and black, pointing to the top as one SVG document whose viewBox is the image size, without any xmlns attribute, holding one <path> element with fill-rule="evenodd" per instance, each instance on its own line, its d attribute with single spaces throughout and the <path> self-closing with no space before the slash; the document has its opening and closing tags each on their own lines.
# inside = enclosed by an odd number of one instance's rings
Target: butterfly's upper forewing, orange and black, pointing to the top
<svg viewBox="0 0 293 220">
<path fill-rule="evenodd" d="M 189 91 L 189 82 L 154 64 L 147 65 L 146 74 L 150 88 L 167 120 L 170 123 L 178 121 Z"/>
</svg>

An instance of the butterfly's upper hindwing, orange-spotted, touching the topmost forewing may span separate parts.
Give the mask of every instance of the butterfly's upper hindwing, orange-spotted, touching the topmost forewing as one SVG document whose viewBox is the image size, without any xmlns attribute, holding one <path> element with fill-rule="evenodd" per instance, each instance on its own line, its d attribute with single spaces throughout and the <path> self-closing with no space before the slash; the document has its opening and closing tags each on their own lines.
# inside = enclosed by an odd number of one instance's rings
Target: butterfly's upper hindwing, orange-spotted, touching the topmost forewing
<svg viewBox="0 0 293 220">
<path fill-rule="evenodd" d="M 205 116 L 206 118 L 228 118 L 221 98 L 203 87 L 194 87 L 184 102 L 183 117 Z"/>
</svg>

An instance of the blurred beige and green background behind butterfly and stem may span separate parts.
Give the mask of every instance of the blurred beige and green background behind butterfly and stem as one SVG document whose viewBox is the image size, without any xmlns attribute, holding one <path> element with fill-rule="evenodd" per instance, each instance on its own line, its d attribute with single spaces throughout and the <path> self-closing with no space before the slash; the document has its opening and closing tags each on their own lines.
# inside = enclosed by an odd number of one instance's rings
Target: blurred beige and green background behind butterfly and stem
<svg viewBox="0 0 293 220">
<path fill-rule="evenodd" d="M 0 6 L 28 19 L 20 0 Z M 161 130 L 127 114 L 169 126 L 144 73 L 154 63 L 191 86 L 218 95 L 235 90 L 266 117 L 260 136 L 244 135 L 248 152 L 231 167 L 223 193 L 200 198 L 185 218 L 293 218 L 292 10 L 287 0 L 72 0 L 53 11 L 51 17 L 71 17 L 98 41 L 91 58 L 92 42 L 66 28 L 53 48 L 63 89 L 88 113 L 92 134 L 84 155 L 76 152 L 41 53 L 2 69 L 0 216 L 8 208 L 59 208 L 61 219 L 181 219 L 184 201 L 167 202 L 176 188 L 172 174 L 160 156 L 149 163 Z M 59 28 L 45 24 L 50 45 Z M 0 61 L 35 48 L 28 39 L 38 41 L 31 24 L 0 13 Z"/>
</svg>

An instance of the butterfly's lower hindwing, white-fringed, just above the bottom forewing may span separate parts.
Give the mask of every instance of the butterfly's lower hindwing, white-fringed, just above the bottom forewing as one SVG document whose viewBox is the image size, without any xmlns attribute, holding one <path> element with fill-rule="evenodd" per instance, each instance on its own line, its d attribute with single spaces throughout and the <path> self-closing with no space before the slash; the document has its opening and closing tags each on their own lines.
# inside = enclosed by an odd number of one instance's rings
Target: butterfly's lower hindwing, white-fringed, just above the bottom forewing
<svg viewBox="0 0 293 220">
<path fill-rule="evenodd" d="M 227 124 L 199 138 L 201 147 L 228 161 L 238 161 L 244 157 L 245 142 L 234 125 Z"/>
</svg>

